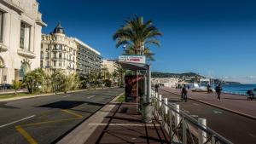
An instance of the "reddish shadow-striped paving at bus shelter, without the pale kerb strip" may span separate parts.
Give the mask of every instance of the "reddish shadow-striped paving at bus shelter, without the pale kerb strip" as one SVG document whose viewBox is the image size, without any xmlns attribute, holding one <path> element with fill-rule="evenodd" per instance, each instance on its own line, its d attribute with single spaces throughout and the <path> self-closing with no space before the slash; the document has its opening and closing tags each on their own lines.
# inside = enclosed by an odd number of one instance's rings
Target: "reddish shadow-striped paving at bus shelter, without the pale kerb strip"
<svg viewBox="0 0 256 144">
<path fill-rule="evenodd" d="M 144 124 L 134 103 L 118 104 L 109 112 L 86 144 L 92 143 L 168 143 L 166 131 L 160 124 Z M 146 126 L 147 125 L 147 126 Z"/>
</svg>

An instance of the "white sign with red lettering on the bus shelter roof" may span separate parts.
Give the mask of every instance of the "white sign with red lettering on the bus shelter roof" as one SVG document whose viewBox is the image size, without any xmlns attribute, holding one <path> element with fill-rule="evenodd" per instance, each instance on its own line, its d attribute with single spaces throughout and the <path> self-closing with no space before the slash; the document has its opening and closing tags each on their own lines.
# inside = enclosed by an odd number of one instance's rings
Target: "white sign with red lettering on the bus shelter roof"
<svg viewBox="0 0 256 144">
<path fill-rule="evenodd" d="M 146 64 L 146 58 L 143 55 L 119 55 L 119 62 Z"/>
</svg>

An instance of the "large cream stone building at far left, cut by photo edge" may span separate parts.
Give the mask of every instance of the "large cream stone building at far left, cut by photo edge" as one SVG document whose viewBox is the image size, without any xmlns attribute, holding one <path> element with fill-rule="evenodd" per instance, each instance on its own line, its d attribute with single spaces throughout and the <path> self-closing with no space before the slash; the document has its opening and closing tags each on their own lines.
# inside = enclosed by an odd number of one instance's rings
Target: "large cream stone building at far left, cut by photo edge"
<svg viewBox="0 0 256 144">
<path fill-rule="evenodd" d="M 0 0 L 0 84 L 40 67 L 42 14 L 36 0 Z"/>
</svg>

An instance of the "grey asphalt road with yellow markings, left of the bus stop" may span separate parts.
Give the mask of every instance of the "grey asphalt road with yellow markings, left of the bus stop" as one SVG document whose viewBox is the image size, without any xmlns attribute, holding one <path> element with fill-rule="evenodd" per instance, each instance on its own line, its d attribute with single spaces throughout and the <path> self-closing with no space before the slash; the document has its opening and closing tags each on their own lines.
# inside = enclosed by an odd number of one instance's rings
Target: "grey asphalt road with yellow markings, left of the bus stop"
<svg viewBox="0 0 256 144">
<path fill-rule="evenodd" d="M 124 89 L 0 102 L 0 144 L 55 143 Z"/>
</svg>

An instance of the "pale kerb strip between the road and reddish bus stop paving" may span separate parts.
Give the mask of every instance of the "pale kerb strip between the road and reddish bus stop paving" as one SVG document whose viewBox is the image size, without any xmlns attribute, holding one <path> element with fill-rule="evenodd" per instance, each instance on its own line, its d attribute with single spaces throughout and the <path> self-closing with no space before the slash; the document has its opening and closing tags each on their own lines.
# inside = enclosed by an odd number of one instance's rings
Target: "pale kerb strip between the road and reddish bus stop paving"
<svg viewBox="0 0 256 144">
<path fill-rule="evenodd" d="M 100 115 L 100 111 L 101 110 L 105 110 L 108 109 L 108 111 L 110 112 L 114 106 L 108 106 L 109 103 L 116 103 L 119 96 L 120 95 L 124 95 L 124 92 L 122 92 L 121 94 L 114 96 L 113 99 L 111 101 L 109 101 L 104 107 L 96 110 L 96 112 L 93 112 L 88 118 L 84 118 L 84 120 L 82 122 L 80 122 L 79 124 L 77 124 L 76 126 L 73 127 L 73 129 L 68 130 L 66 134 L 61 135 L 61 137 L 59 137 L 54 143 L 57 144 L 84 144 L 84 142 L 86 142 L 89 138 L 90 135 L 93 134 L 93 132 L 96 130 L 97 126 L 89 126 L 90 122 L 96 122 L 98 120 L 98 123 L 102 123 L 103 119 L 105 118 L 102 117 Z M 119 102 L 117 102 L 119 103 Z M 105 114 L 108 115 L 109 112 L 106 112 Z M 84 125 L 87 126 L 84 129 Z"/>
</svg>

